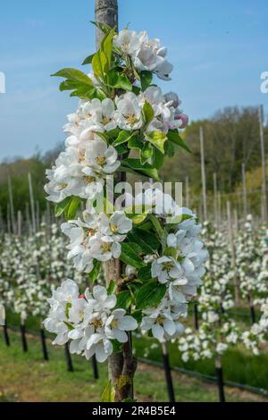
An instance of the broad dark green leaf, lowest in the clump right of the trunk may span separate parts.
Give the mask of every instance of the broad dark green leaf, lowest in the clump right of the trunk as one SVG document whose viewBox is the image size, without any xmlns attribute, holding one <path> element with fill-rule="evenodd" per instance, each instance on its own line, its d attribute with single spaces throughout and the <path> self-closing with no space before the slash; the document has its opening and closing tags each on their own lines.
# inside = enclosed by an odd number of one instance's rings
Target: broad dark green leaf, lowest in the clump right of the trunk
<svg viewBox="0 0 268 420">
<path fill-rule="evenodd" d="M 157 307 L 166 293 L 166 286 L 159 281 L 151 280 L 142 286 L 136 295 L 136 309 Z"/>
</svg>

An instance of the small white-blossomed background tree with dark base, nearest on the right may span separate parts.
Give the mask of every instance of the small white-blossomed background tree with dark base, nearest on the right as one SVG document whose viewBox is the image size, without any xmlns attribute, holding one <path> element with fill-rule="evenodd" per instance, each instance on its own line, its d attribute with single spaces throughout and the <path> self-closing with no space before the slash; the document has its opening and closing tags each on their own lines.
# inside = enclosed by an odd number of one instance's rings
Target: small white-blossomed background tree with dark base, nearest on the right
<svg viewBox="0 0 268 420">
<path fill-rule="evenodd" d="M 239 325 L 228 312 L 234 307 L 230 251 L 222 232 L 215 231 L 211 223 L 204 223 L 202 233 L 209 250 L 207 271 L 198 298 L 202 321 L 197 332 L 186 329 L 185 336 L 179 339 L 179 349 L 185 362 L 189 358 L 214 357 L 219 398 L 224 402 L 222 355 L 240 337 Z"/>
</svg>

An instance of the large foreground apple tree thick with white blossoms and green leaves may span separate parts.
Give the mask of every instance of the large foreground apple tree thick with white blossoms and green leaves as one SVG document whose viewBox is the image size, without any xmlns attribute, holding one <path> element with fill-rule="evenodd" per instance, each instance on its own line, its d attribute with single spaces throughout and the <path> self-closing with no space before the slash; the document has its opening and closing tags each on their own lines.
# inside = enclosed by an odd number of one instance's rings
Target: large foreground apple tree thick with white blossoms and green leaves
<svg viewBox="0 0 268 420">
<path fill-rule="evenodd" d="M 126 172 L 160 181 L 165 156 L 188 149 L 179 133 L 188 117 L 175 93 L 155 86 L 154 77 L 170 80 L 172 71 L 158 39 L 96 27 L 103 32 L 99 49 L 84 62 L 91 73 L 55 73 L 64 79 L 60 89 L 80 102 L 68 115 L 65 150 L 46 184 L 56 214 L 66 218 L 68 258 L 90 285 L 79 290 L 76 281 L 63 281 L 49 299 L 45 326 L 56 333 L 54 343 L 70 341 L 71 352 L 108 358 L 110 394 L 121 401 L 133 398 L 130 332 L 140 328 L 160 342 L 182 332 L 180 317 L 197 293 L 207 253 L 196 215 L 159 186 L 123 200 L 121 184 L 111 187 L 111 176 L 124 181 Z M 95 285 L 101 265 L 105 285 Z"/>
</svg>

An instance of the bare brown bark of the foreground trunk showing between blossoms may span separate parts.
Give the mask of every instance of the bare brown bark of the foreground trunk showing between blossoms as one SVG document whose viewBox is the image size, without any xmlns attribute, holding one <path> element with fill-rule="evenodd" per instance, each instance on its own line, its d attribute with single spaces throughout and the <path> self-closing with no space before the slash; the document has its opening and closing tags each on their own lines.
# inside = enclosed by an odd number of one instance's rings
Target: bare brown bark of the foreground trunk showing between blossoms
<svg viewBox="0 0 268 420">
<path fill-rule="evenodd" d="M 118 4 L 117 0 L 95 0 L 95 20 L 109 25 L 111 28 L 118 27 Z M 99 47 L 103 32 L 96 29 L 96 47 Z M 120 172 L 118 181 L 126 181 L 125 172 Z M 113 280 L 119 284 L 121 280 L 122 264 L 119 259 L 112 259 L 105 263 L 106 286 Z M 120 287 L 117 292 L 121 291 Z M 122 345 L 119 353 L 113 353 L 109 357 L 109 376 L 115 390 L 114 400 L 116 402 L 124 399 L 133 399 L 133 378 L 137 367 L 137 360 L 133 357 L 131 346 L 131 335 L 129 340 Z"/>
</svg>

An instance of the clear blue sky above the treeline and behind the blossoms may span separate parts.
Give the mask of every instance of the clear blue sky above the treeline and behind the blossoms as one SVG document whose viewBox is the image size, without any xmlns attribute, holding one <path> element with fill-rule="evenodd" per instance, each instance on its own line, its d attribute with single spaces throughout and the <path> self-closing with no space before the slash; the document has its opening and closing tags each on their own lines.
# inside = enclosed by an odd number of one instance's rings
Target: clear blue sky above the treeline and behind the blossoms
<svg viewBox="0 0 268 420">
<path fill-rule="evenodd" d="M 267 0 L 119 0 L 120 26 L 147 29 L 169 48 L 172 81 L 191 120 L 226 105 L 264 104 L 268 71 Z M 63 141 L 66 113 L 77 99 L 49 75 L 79 67 L 94 51 L 94 0 L 9 0 L 0 9 L 0 160 L 44 152 Z M 88 68 L 89 70 L 89 68 Z"/>
</svg>

